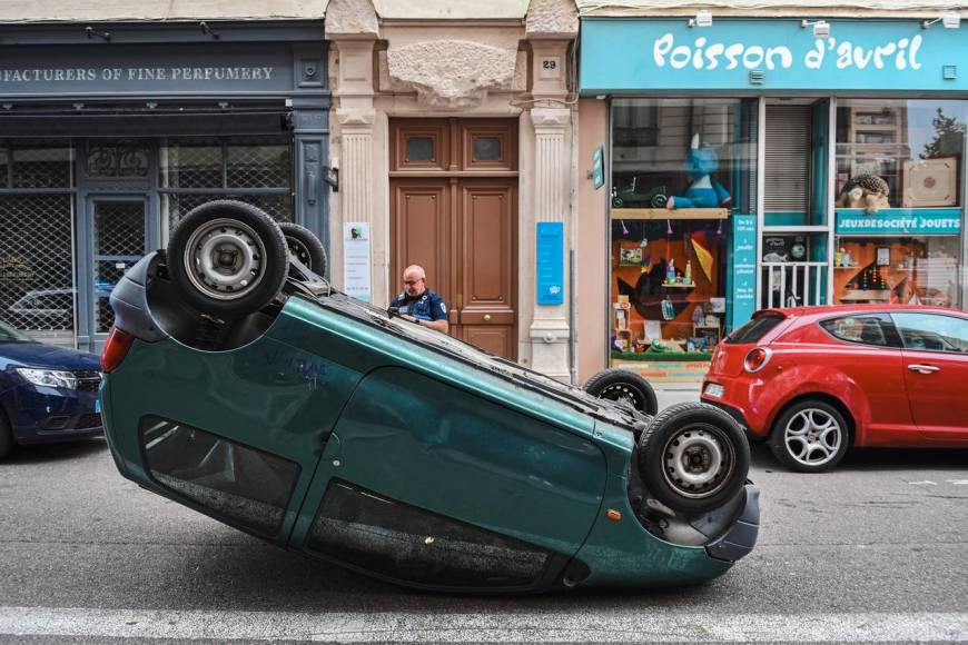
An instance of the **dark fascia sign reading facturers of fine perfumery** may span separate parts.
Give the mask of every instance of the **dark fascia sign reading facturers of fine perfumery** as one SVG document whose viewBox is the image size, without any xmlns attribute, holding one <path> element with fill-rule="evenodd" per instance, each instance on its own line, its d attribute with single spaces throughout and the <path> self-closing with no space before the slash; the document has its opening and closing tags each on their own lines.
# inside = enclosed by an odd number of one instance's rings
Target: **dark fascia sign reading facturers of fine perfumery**
<svg viewBox="0 0 968 645">
<path fill-rule="evenodd" d="M 135 48 L 117 57 L 103 51 L 24 48 L 4 53 L 0 60 L 0 96 L 292 89 L 292 52 L 266 44 L 217 50 L 197 46 L 164 51 Z"/>
</svg>

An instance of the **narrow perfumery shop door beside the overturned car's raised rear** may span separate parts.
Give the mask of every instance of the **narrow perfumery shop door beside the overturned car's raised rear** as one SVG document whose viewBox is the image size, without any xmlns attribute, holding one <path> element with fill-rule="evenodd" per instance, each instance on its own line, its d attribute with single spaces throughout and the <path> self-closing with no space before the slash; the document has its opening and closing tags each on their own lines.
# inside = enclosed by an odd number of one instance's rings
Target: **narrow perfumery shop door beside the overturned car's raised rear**
<svg viewBox="0 0 968 645">
<path fill-rule="evenodd" d="M 111 289 L 145 255 L 145 202 L 95 204 L 95 321 L 96 331 L 110 331 L 115 324 Z"/>
</svg>

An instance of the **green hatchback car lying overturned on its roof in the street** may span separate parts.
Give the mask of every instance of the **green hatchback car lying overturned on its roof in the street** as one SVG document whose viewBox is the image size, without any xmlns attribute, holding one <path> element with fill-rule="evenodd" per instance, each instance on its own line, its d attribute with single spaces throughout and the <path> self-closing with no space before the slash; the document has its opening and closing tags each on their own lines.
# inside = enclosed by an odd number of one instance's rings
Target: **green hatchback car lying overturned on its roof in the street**
<svg viewBox="0 0 968 645">
<path fill-rule="evenodd" d="M 753 547 L 725 413 L 593 397 L 340 294 L 323 261 L 308 231 L 216 201 L 127 272 L 101 389 L 124 476 L 424 588 L 681 585 Z"/>
</svg>

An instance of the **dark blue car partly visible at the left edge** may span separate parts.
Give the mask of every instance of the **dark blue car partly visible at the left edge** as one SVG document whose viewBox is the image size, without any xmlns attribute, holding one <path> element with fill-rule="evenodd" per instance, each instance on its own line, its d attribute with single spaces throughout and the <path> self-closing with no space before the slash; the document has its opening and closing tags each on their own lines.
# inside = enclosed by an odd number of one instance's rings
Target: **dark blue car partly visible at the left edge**
<svg viewBox="0 0 968 645">
<path fill-rule="evenodd" d="M 37 343 L 0 322 L 0 459 L 14 444 L 103 433 L 93 354 Z"/>
</svg>

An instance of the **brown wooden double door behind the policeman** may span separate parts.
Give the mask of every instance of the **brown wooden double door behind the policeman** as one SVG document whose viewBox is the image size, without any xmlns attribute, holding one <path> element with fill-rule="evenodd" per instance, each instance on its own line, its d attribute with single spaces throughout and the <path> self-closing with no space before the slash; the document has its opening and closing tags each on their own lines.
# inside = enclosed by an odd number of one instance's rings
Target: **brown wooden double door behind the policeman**
<svg viewBox="0 0 968 645">
<path fill-rule="evenodd" d="M 391 121 L 392 294 L 409 265 L 451 335 L 517 358 L 517 121 Z"/>
</svg>

